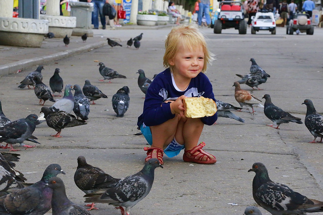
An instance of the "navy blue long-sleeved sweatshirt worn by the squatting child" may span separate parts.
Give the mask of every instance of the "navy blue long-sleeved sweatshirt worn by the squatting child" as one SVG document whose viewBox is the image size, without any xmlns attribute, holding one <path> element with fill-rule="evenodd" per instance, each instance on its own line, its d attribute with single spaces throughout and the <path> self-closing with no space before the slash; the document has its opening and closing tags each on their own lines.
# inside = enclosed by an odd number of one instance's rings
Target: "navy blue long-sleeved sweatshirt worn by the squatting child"
<svg viewBox="0 0 323 215">
<path fill-rule="evenodd" d="M 138 127 L 144 123 L 146 126 L 156 126 L 175 117 L 172 114 L 170 102 L 175 101 L 178 97 L 185 95 L 187 97 L 205 97 L 215 101 L 213 88 L 210 80 L 204 73 L 199 73 L 191 79 L 190 84 L 184 91 L 177 90 L 172 82 L 172 74 L 169 68 L 159 73 L 147 89 L 143 113 L 138 117 Z M 211 117 L 201 118 L 205 125 L 213 125 L 218 115 L 215 113 Z"/>
</svg>

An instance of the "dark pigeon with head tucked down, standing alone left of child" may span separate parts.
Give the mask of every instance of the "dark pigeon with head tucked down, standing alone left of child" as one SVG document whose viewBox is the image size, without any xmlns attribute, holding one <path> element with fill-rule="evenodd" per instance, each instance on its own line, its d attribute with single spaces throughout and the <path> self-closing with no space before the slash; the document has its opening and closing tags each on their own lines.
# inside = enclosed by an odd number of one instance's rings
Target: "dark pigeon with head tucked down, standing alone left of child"
<svg viewBox="0 0 323 215">
<path fill-rule="evenodd" d="M 130 97 L 129 87 L 123 86 L 120 88 L 116 94 L 112 97 L 112 107 L 114 112 L 117 113 L 117 117 L 123 117 L 129 108 Z"/>
</svg>

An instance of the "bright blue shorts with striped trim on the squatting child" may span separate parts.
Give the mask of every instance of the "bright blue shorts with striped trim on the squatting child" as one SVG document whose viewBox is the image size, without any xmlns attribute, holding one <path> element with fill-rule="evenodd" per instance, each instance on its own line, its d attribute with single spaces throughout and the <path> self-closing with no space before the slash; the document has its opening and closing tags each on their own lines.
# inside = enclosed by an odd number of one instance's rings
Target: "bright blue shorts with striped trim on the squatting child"
<svg viewBox="0 0 323 215">
<path fill-rule="evenodd" d="M 143 136 L 146 138 L 149 145 L 152 145 L 152 135 L 151 135 L 150 128 L 148 126 L 145 126 L 144 124 L 142 124 L 140 126 L 140 130 L 141 130 L 141 133 L 143 134 Z M 169 158 L 172 158 L 172 157 L 175 157 L 176 155 L 178 155 L 181 152 L 181 150 L 184 148 L 185 148 L 185 145 L 181 145 L 181 144 L 177 143 L 177 141 L 174 138 L 172 140 L 172 142 L 164 149 L 164 153 Z"/>
</svg>

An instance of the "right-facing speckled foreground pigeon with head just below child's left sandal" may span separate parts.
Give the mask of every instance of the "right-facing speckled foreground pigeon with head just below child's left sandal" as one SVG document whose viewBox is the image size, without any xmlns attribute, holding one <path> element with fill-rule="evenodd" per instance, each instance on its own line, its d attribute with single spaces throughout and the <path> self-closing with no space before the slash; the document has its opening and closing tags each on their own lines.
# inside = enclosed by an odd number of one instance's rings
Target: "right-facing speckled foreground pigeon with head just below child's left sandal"
<svg viewBox="0 0 323 215">
<path fill-rule="evenodd" d="M 108 203 L 120 209 L 122 215 L 129 215 L 130 209 L 150 192 L 157 167 L 163 168 L 159 160 L 149 159 L 140 172 L 121 179 L 110 188 L 86 194 L 85 202 Z"/>
</svg>

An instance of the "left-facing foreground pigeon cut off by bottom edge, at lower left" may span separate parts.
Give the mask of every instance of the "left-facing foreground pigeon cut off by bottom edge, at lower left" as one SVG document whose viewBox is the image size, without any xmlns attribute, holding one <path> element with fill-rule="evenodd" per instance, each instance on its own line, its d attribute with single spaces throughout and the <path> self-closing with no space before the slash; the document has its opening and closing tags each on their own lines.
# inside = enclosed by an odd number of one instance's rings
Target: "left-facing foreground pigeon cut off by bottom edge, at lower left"
<svg viewBox="0 0 323 215">
<path fill-rule="evenodd" d="M 52 195 L 52 214 L 53 215 L 91 215 L 91 213 L 82 206 L 71 202 L 65 192 L 65 186 L 62 179 L 52 177 L 45 187 L 53 189 Z"/>
</svg>

